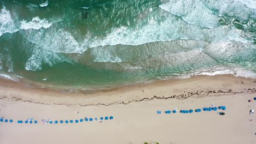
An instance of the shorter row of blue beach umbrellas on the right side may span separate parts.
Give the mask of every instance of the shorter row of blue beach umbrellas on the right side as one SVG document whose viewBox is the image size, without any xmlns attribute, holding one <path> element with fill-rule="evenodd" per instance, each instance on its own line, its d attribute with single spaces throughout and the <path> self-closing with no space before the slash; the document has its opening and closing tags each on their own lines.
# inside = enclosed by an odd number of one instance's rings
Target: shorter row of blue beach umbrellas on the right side
<svg viewBox="0 0 256 144">
<path fill-rule="evenodd" d="M 203 111 L 217 111 L 217 110 L 226 110 L 226 106 L 219 106 L 219 107 L 203 107 L 202 110 Z M 202 111 L 201 109 L 196 109 L 195 112 L 201 112 Z M 173 110 L 173 111 L 170 111 L 170 110 L 166 110 L 165 113 L 176 113 L 177 110 Z M 194 110 L 181 110 L 179 111 L 181 113 L 193 113 Z M 156 113 L 160 114 L 161 111 L 156 111 Z"/>
</svg>

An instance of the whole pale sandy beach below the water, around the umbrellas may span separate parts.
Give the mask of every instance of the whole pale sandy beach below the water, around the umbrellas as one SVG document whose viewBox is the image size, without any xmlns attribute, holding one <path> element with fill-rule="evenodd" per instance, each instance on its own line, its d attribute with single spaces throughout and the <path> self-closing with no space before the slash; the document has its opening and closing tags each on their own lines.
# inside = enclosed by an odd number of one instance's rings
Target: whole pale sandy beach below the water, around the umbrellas
<svg viewBox="0 0 256 144">
<path fill-rule="evenodd" d="M 254 81 L 233 75 L 194 76 L 86 94 L 31 88 L 2 79 L 0 116 L 14 122 L 0 122 L 0 143 L 254 143 L 256 114 L 249 115 L 249 110 L 256 109 Z M 212 103 L 227 109 L 179 113 Z M 176 107 L 177 113 L 164 113 Z M 162 113 L 157 114 L 158 110 Z M 101 116 L 114 119 L 40 122 Z M 39 123 L 17 123 L 27 118 Z"/>
</svg>

